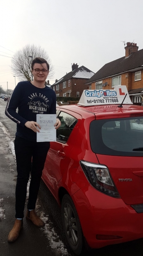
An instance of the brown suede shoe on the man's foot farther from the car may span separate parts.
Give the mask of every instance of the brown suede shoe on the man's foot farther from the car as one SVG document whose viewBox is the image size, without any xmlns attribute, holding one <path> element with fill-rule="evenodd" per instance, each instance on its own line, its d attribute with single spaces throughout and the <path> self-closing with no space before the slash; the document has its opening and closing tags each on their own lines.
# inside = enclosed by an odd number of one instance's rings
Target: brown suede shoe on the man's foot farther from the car
<svg viewBox="0 0 143 256">
<path fill-rule="evenodd" d="M 9 235 L 8 235 L 8 239 L 7 241 L 9 243 L 13 243 L 16 241 L 16 239 L 19 237 L 19 232 L 20 230 L 23 228 L 23 220 L 17 220 L 14 223 L 14 226 L 12 228 L 12 230 L 10 231 Z"/>
</svg>

